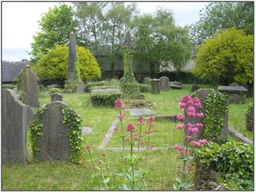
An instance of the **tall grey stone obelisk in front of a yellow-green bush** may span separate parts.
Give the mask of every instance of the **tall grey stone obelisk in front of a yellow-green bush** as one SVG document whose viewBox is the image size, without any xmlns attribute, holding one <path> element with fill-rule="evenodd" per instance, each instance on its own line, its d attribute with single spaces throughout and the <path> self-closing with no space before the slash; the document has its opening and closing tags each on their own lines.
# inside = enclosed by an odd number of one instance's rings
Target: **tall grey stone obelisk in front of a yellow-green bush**
<svg viewBox="0 0 256 193">
<path fill-rule="evenodd" d="M 69 35 L 69 66 L 68 66 L 69 83 L 75 82 L 75 63 L 77 61 L 75 46 L 76 46 L 75 34 L 71 33 Z"/>
</svg>

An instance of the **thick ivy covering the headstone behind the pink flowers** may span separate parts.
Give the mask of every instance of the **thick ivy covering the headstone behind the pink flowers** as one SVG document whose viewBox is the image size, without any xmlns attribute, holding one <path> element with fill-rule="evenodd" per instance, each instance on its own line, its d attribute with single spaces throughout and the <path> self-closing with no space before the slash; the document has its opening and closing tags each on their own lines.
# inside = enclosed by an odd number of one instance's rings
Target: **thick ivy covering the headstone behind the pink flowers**
<svg viewBox="0 0 256 193">
<path fill-rule="evenodd" d="M 205 117 L 203 119 L 204 129 L 202 137 L 212 142 L 222 143 L 219 137 L 222 133 L 223 120 L 228 113 L 227 95 L 216 93 L 211 90 L 204 102 Z"/>
</svg>

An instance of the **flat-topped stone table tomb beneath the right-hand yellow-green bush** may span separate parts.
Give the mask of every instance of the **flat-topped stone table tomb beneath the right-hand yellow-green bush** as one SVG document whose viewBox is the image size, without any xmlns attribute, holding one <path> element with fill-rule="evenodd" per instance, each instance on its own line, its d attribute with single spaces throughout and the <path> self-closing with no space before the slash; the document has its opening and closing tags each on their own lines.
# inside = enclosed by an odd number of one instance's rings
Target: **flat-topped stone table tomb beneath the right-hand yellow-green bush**
<svg viewBox="0 0 256 193">
<path fill-rule="evenodd" d="M 219 86 L 219 92 L 228 94 L 229 104 L 244 104 L 246 103 L 247 89 L 243 86 Z"/>
</svg>

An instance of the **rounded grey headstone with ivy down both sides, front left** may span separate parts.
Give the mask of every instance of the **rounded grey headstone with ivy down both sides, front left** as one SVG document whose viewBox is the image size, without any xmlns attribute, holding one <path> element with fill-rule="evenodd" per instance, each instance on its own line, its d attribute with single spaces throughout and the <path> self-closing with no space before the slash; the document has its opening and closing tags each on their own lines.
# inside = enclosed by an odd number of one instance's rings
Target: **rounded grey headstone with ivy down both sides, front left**
<svg viewBox="0 0 256 193">
<path fill-rule="evenodd" d="M 81 118 L 62 101 L 46 104 L 30 128 L 34 158 L 72 162 L 81 159 Z"/>
</svg>

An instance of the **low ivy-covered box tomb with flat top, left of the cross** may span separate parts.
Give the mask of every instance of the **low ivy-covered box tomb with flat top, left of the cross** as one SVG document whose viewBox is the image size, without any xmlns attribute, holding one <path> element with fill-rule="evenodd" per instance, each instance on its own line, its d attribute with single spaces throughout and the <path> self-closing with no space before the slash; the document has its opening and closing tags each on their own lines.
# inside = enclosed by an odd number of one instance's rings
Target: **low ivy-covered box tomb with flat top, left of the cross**
<svg viewBox="0 0 256 193">
<path fill-rule="evenodd" d="M 121 92 L 91 92 L 90 94 L 93 106 L 113 107 L 116 98 L 121 98 Z"/>
</svg>

